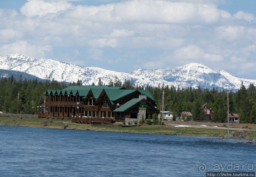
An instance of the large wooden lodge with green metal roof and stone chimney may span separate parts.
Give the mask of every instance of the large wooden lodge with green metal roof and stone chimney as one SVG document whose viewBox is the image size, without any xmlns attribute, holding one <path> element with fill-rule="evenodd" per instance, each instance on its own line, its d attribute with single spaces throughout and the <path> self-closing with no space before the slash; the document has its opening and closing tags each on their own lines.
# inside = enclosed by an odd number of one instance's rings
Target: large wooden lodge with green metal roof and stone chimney
<svg viewBox="0 0 256 177">
<path fill-rule="evenodd" d="M 38 106 L 39 118 L 71 119 L 82 123 L 139 122 L 144 115 L 158 114 L 148 90 L 124 87 L 71 85 L 47 90 Z"/>
</svg>

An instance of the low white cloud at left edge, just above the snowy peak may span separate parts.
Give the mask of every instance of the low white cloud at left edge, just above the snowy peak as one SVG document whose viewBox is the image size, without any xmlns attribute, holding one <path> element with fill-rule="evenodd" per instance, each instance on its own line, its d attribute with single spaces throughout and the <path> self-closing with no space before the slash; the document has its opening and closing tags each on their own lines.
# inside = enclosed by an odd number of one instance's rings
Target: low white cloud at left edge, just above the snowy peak
<svg viewBox="0 0 256 177">
<path fill-rule="evenodd" d="M 43 58 L 46 53 L 51 51 L 52 47 L 50 46 L 32 45 L 27 41 L 16 41 L 0 46 L 0 53 L 2 55 L 22 53 L 28 56 L 33 56 L 33 58 Z"/>
</svg>

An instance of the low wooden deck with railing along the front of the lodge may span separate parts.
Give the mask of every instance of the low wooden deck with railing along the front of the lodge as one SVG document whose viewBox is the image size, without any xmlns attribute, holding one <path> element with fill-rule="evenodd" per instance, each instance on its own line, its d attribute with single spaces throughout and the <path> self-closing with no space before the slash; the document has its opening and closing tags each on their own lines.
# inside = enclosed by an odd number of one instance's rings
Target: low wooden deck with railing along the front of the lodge
<svg viewBox="0 0 256 177">
<path fill-rule="evenodd" d="M 113 118 L 89 118 L 89 117 L 72 117 L 71 118 L 72 122 L 74 123 L 114 123 Z"/>
</svg>

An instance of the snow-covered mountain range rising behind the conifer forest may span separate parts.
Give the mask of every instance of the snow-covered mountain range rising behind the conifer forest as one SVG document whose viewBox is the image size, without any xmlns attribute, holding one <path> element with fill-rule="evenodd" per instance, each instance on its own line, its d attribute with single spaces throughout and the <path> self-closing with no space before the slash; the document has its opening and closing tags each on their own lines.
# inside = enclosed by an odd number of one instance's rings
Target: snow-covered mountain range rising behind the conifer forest
<svg viewBox="0 0 256 177">
<path fill-rule="evenodd" d="M 98 67 L 86 67 L 72 65 L 70 63 L 55 61 L 51 59 L 34 59 L 23 54 L 10 54 L 0 56 L 0 69 L 23 72 L 34 75 L 37 78 L 49 77 L 57 81 L 77 82 L 82 80 L 83 85 L 98 83 L 99 79 L 103 84 L 108 85 L 117 77 L 121 82 L 130 80 L 134 85 L 158 86 L 173 85 L 174 87 L 187 88 L 228 88 L 237 90 L 241 82 L 248 87 L 250 83 L 256 85 L 256 80 L 243 79 L 232 76 L 224 70 L 213 70 L 207 66 L 191 63 L 179 66 L 170 70 L 161 69 L 138 69 L 130 73 L 110 71 Z M 2 73 L 4 77 L 4 73 Z"/>
</svg>

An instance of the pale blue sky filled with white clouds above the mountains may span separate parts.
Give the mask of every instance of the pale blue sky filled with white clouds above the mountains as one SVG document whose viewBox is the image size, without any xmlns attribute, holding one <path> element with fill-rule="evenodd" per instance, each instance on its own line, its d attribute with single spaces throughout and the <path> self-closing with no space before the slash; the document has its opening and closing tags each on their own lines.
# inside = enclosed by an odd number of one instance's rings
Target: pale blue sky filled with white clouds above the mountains
<svg viewBox="0 0 256 177">
<path fill-rule="evenodd" d="M 0 55 L 130 72 L 192 62 L 256 79 L 255 0 L 1 0 Z"/>
</svg>

